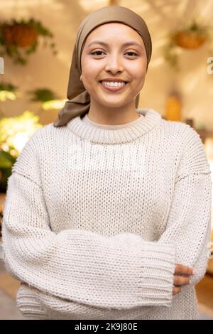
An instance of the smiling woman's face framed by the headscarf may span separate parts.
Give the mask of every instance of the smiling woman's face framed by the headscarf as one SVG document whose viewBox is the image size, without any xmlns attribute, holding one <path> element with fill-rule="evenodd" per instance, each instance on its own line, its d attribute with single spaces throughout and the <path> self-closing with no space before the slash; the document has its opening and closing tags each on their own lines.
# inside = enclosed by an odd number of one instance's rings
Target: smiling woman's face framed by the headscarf
<svg viewBox="0 0 213 334">
<path fill-rule="evenodd" d="M 102 45 L 94 41 L 106 43 Z M 124 45 L 124 43 L 137 43 Z M 105 23 L 92 31 L 82 50 L 82 82 L 90 95 L 91 105 L 122 107 L 135 103 L 146 76 L 146 49 L 141 36 L 122 23 Z M 116 78 L 128 82 L 111 92 L 100 80 Z"/>
</svg>

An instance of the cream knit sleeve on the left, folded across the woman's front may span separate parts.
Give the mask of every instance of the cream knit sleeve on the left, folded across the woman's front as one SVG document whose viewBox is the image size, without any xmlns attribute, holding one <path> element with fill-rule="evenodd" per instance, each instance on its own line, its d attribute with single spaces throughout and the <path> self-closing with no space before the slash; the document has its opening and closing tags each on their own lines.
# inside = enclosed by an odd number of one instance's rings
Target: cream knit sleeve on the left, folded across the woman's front
<svg viewBox="0 0 213 334">
<path fill-rule="evenodd" d="M 131 233 L 51 230 L 34 138 L 8 180 L 2 233 L 9 273 L 49 296 L 86 306 L 170 306 L 175 249 L 169 243 Z"/>
</svg>

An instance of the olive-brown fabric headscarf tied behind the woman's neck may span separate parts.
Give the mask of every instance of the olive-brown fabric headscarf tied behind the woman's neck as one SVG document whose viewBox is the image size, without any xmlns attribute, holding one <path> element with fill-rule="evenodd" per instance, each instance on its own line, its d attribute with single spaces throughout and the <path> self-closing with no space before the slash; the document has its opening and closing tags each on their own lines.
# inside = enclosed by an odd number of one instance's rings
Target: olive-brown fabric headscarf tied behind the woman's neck
<svg viewBox="0 0 213 334">
<path fill-rule="evenodd" d="M 131 9 L 123 6 L 107 6 L 102 7 L 97 11 L 92 11 L 92 13 L 84 18 L 78 28 L 75 47 L 72 53 L 72 63 L 67 90 L 67 99 L 69 99 L 69 101 L 65 102 L 65 106 L 60 109 L 58 118 L 53 123 L 53 126 L 63 126 L 67 124 L 70 119 L 89 112 L 90 95 L 87 90 L 85 90 L 84 85 L 80 80 L 82 72 L 82 50 L 89 33 L 91 33 L 98 26 L 110 22 L 124 23 L 137 31 L 143 39 L 143 43 L 146 48 L 148 69 L 148 63 L 151 60 L 152 42 L 146 22 L 143 18 L 141 18 L 141 16 L 136 14 L 134 11 L 131 11 Z M 138 107 L 138 102 L 139 94 L 136 97 L 136 108 Z"/>
</svg>

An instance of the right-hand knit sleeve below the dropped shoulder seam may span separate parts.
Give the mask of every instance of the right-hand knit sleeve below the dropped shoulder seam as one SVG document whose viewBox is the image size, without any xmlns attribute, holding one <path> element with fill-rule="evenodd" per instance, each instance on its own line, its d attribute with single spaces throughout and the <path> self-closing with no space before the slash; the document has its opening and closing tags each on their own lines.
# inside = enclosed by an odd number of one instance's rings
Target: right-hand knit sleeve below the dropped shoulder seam
<svg viewBox="0 0 213 334">
<path fill-rule="evenodd" d="M 207 269 L 211 231 L 212 183 L 210 174 L 189 175 L 175 185 L 167 228 L 158 242 L 176 249 L 175 262 L 195 269 L 188 289 L 200 281 Z"/>
</svg>

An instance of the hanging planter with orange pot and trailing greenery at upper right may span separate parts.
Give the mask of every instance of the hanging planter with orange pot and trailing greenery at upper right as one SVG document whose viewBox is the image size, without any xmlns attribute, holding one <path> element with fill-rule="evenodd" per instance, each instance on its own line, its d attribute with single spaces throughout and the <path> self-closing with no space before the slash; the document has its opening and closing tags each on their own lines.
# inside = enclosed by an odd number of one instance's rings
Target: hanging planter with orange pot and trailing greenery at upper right
<svg viewBox="0 0 213 334">
<path fill-rule="evenodd" d="M 185 28 L 173 31 L 168 35 L 168 43 L 164 48 L 164 58 L 175 70 L 180 70 L 178 64 L 178 48 L 196 50 L 209 41 L 209 27 L 202 26 L 195 20 Z"/>
</svg>

